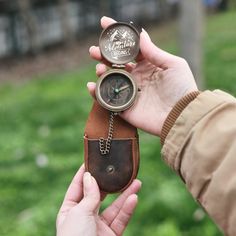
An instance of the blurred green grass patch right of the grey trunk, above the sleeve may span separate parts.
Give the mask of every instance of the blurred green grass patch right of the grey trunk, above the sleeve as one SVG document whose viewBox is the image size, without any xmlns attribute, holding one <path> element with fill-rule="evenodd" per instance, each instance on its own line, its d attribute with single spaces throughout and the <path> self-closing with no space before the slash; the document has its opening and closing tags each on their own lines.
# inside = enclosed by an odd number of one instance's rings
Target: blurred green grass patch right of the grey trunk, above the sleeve
<svg viewBox="0 0 236 236">
<path fill-rule="evenodd" d="M 210 89 L 222 88 L 236 95 L 235 11 L 212 16 L 205 41 L 205 77 Z"/>
</svg>

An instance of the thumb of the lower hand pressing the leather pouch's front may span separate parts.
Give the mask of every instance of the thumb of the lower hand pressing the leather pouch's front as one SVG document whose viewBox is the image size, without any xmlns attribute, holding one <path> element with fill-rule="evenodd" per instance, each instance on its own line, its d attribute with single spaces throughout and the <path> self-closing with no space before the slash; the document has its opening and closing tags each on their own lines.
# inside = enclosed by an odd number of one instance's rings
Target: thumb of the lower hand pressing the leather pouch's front
<svg viewBox="0 0 236 236">
<path fill-rule="evenodd" d="M 78 207 L 82 212 L 96 212 L 100 204 L 100 191 L 96 180 L 89 172 L 84 173 L 83 192 L 84 197 L 78 204 Z"/>
</svg>

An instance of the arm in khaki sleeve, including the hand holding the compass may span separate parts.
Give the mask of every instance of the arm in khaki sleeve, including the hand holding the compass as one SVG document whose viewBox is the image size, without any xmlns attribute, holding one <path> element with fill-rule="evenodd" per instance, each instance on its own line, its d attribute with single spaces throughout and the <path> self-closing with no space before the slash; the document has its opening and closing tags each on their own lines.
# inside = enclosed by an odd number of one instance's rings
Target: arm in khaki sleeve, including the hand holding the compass
<svg viewBox="0 0 236 236">
<path fill-rule="evenodd" d="M 101 26 L 114 22 L 103 17 Z M 220 91 L 200 93 L 188 63 L 158 48 L 144 30 L 140 51 L 136 63 L 126 69 L 141 92 L 134 106 L 120 116 L 161 136 L 162 156 L 169 166 L 224 232 L 236 235 L 235 98 Z M 99 47 L 89 52 L 104 63 Z M 106 70 L 105 64 L 96 67 L 98 76 Z M 88 83 L 93 97 L 95 86 Z"/>
</svg>

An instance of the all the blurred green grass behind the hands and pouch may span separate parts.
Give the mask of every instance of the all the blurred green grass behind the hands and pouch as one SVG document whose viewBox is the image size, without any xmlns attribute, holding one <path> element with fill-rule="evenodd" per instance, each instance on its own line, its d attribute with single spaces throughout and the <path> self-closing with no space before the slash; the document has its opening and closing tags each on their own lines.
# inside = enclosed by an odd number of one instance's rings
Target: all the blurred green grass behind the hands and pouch
<svg viewBox="0 0 236 236">
<path fill-rule="evenodd" d="M 235 13 L 208 19 L 204 63 L 207 88 L 234 95 Z M 172 45 L 172 40 L 160 46 L 166 45 Z M 92 105 L 86 83 L 96 79 L 94 73 L 94 65 L 90 65 L 37 80 L 1 84 L 0 235 L 55 235 L 57 211 L 83 162 L 83 130 Z M 143 187 L 125 235 L 221 235 L 161 160 L 158 138 L 140 132 L 140 143 Z M 37 161 L 42 162 L 41 167 Z M 103 207 L 113 198 L 108 197 Z"/>
</svg>

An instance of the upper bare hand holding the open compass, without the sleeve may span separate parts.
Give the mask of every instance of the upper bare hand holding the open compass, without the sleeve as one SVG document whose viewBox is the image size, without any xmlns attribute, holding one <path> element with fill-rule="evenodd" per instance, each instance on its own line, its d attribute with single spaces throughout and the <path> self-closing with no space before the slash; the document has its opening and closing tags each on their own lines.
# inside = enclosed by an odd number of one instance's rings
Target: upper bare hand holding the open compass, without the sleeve
<svg viewBox="0 0 236 236">
<path fill-rule="evenodd" d="M 102 28 L 114 22 L 103 17 Z M 120 116 L 137 128 L 160 136 L 174 105 L 184 95 L 198 89 L 187 62 L 155 46 L 144 30 L 140 34 L 140 50 L 136 63 L 128 63 L 126 70 L 133 75 L 141 91 L 135 104 Z M 99 47 L 92 46 L 89 52 L 93 59 L 104 63 Z M 102 63 L 96 67 L 98 76 L 106 70 Z M 88 89 L 94 96 L 95 83 L 88 83 Z"/>
</svg>

